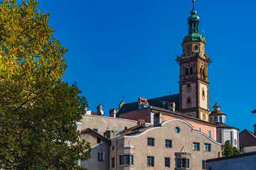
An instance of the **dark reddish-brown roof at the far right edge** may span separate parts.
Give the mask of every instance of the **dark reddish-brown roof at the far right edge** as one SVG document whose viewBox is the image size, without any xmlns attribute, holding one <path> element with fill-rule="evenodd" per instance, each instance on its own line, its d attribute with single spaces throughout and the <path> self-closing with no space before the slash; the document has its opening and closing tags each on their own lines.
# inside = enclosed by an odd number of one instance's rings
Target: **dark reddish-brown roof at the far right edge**
<svg viewBox="0 0 256 170">
<path fill-rule="evenodd" d="M 256 146 L 256 135 L 249 130 L 242 130 L 239 134 L 239 145 L 244 147 Z"/>
</svg>

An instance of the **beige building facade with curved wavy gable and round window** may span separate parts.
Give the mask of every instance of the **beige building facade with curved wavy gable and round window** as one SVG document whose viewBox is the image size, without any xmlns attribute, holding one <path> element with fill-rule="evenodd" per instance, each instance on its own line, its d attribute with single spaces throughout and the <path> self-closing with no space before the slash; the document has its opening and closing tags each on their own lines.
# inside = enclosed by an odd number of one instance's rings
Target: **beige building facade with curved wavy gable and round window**
<svg viewBox="0 0 256 170">
<path fill-rule="evenodd" d="M 166 120 L 111 140 L 110 169 L 201 170 L 220 157 L 221 144 L 181 119 Z"/>
</svg>

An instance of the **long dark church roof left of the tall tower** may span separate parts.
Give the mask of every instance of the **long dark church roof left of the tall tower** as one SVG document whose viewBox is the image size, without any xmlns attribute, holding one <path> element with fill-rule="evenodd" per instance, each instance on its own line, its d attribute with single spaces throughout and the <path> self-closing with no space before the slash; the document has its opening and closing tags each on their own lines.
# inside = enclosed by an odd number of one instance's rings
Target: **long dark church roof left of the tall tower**
<svg viewBox="0 0 256 170">
<path fill-rule="evenodd" d="M 163 102 L 165 102 L 164 104 L 164 108 L 168 109 L 168 103 L 170 102 L 175 102 L 176 103 L 176 108 L 179 108 L 178 106 L 178 101 L 179 101 L 179 94 L 173 94 L 173 95 L 169 95 L 169 96 L 163 96 L 163 97 L 159 97 L 159 98 L 151 98 L 148 101 L 149 106 L 156 106 L 159 108 L 163 108 Z M 121 115 L 122 113 L 128 113 L 130 111 L 136 111 L 138 110 L 138 102 L 133 102 L 133 103 L 125 103 L 122 108 L 119 109 L 119 111 L 117 112 L 117 115 Z"/>
</svg>

